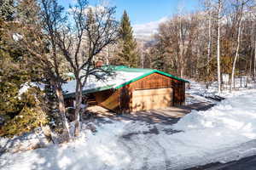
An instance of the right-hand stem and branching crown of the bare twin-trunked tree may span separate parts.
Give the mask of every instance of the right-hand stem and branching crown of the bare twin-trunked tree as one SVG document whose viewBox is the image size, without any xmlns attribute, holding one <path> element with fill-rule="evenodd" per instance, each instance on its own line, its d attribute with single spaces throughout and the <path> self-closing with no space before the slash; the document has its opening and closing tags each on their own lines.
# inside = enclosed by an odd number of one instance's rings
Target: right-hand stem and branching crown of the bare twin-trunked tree
<svg viewBox="0 0 256 170">
<path fill-rule="evenodd" d="M 118 37 L 118 22 L 114 19 L 114 14 L 115 8 L 101 5 L 89 7 L 87 0 L 78 0 L 77 4 L 70 8 L 73 24 L 63 25 L 63 28 L 56 30 L 55 33 L 55 42 L 73 69 L 76 79 L 76 136 L 79 135 L 83 88 L 86 86 L 88 77 L 103 78 L 98 74 L 99 72 L 109 73 L 94 65 L 94 57 L 108 44 L 115 42 Z"/>
</svg>

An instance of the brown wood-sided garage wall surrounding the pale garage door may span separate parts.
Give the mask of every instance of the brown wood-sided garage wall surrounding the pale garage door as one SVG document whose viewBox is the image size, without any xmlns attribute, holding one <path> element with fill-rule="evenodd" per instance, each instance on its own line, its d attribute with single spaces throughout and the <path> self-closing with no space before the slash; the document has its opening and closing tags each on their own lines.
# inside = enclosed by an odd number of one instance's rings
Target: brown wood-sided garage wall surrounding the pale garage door
<svg viewBox="0 0 256 170">
<path fill-rule="evenodd" d="M 182 105 L 185 100 L 185 82 L 177 81 L 159 73 L 144 77 L 137 82 L 131 82 L 123 88 L 109 89 L 93 95 L 98 105 L 117 113 L 125 113 L 132 111 L 132 92 L 138 89 L 150 88 L 172 88 L 173 105 Z"/>
</svg>

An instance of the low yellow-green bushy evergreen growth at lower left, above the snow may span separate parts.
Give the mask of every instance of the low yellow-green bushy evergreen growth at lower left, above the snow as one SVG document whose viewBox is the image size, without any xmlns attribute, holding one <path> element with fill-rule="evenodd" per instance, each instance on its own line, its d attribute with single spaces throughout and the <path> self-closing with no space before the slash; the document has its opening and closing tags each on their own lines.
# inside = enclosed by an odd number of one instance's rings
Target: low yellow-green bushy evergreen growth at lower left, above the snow
<svg viewBox="0 0 256 170">
<path fill-rule="evenodd" d="M 38 88 L 29 88 L 26 93 L 16 97 L 20 110 L 3 113 L 5 121 L 0 129 L 0 136 L 12 137 L 31 132 L 35 127 L 42 127 L 49 122 L 47 108 L 44 106 L 44 94 Z"/>
</svg>

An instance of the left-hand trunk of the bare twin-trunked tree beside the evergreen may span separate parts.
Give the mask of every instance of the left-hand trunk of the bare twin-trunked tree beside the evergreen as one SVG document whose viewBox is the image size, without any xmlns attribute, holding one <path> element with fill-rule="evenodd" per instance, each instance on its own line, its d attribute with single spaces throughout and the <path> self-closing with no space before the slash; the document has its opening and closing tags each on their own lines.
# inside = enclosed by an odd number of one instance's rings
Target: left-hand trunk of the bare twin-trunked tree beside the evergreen
<svg viewBox="0 0 256 170">
<path fill-rule="evenodd" d="M 64 141 L 68 142 L 70 139 L 70 133 L 69 133 L 69 127 L 67 123 L 66 108 L 65 108 L 61 85 L 57 85 L 57 87 L 55 88 L 55 92 L 58 98 L 59 111 L 61 114 L 61 122 L 63 125 L 63 135 L 64 135 L 63 138 L 64 138 Z"/>
</svg>

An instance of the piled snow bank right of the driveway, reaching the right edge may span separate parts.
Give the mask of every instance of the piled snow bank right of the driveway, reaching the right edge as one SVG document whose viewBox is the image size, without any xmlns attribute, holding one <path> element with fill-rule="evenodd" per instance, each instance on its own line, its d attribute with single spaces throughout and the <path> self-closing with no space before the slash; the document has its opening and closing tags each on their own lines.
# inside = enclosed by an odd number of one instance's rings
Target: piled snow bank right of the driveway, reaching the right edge
<svg viewBox="0 0 256 170">
<path fill-rule="evenodd" d="M 226 99 L 209 111 L 192 111 L 173 127 L 184 131 L 186 138 L 203 135 L 211 141 L 207 146 L 212 147 L 256 139 L 256 93 L 247 91 Z M 205 144 L 205 140 L 197 143 Z"/>
</svg>

